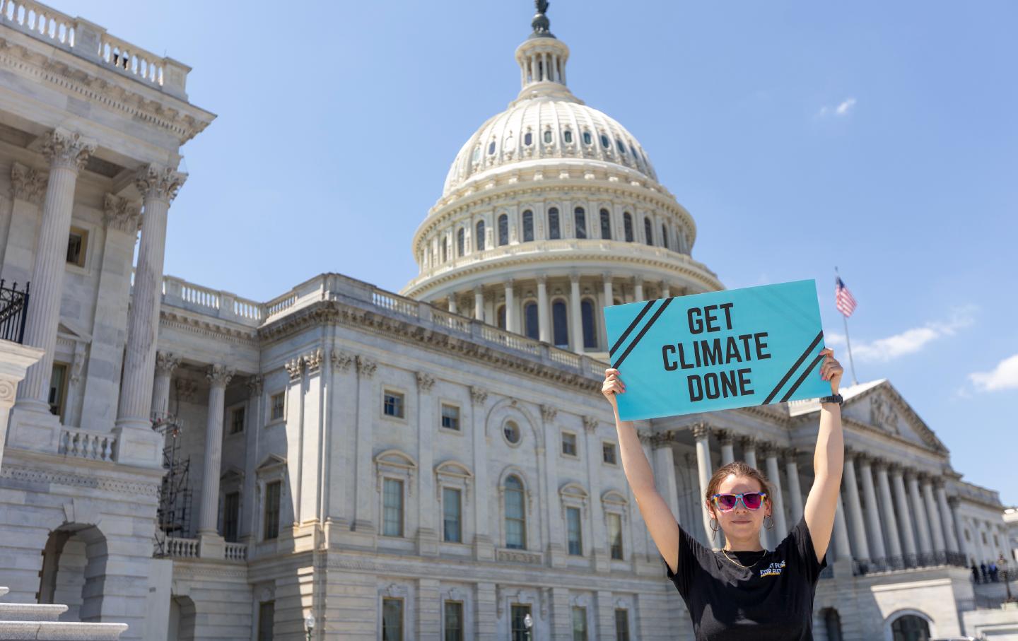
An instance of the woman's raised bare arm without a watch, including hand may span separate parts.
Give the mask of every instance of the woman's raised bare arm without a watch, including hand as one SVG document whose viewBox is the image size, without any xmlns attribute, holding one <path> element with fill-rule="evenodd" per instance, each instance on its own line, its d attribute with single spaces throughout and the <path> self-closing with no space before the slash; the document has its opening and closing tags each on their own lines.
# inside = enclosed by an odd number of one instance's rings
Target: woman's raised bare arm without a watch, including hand
<svg viewBox="0 0 1018 641">
<path fill-rule="evenodd" d="M 651 532 L 651 538 L 675 574 L 679 571 L 679 522 L 654 484 L 654 471 L 643 454 L 632 421 L 619 418 L 619 405 L 615 395 L 624 393 L 625 386 L 619 380 L 618 369 L 605 370 L 605 385 L 601 391 L 615 410 L 615 429 L 619 434 L 619 453 L 626 480 L 636 498 L 636 505 L 639 506 L 639 513 Z"/>
</svg>

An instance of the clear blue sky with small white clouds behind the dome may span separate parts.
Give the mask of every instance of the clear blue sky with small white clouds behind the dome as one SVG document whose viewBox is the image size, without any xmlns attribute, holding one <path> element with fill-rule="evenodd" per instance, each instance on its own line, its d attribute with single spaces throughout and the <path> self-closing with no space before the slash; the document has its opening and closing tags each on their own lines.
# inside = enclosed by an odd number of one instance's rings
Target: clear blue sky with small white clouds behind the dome
<svg viewBox="0 0 1018 641">
<path fill-rule="evenodd" d="M 519 90 L 532 3 L 52 0 L 193 67 L 166 272 L 265 300 L 321 272 L 399 290 L 449 163 Z M 287 7 L 282 10 L 280 7 Z M 148 7 L 148 8 L 146 8 Z M 1018 504 L 1018 4 L 553 0 L 569 85 L 625 125 L 730 288 L 834 267 L 860 381 Z M 846 376 L 847 378 L 848 376 Z"/>
</svg>

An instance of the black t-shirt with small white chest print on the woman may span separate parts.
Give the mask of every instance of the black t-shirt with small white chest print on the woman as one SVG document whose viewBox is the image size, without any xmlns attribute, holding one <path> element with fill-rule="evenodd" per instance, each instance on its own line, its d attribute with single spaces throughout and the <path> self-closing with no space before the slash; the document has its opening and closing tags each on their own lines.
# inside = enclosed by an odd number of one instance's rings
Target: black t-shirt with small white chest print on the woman
<svg viewBox="0 0 1018 641">
<path fill-rule="evenodd" d="M 728 555 L 750 569 L 679 527 L 679 572 L 665 567 L 689 608 L 696 641 L 812 641 L 813 592 L 827 556 L 816 561 L 805 518 L 774 550 Z"/>
</svg>

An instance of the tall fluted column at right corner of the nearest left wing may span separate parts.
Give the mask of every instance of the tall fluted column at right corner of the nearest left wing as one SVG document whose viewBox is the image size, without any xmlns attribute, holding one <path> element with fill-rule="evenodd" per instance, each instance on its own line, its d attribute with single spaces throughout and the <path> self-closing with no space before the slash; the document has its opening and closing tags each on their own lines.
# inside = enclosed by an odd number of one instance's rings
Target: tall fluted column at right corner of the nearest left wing
<svg viewBox="0 0 1018 641">
<path fill-rule="evenodd" d="M 116 431 L 120 433 L 119 461 L 129 458 L 136 464 L 160 465 L 158 448 L 150 451 L 146 435 L 151 434 L 152 383 L 156 373 L 156 343 L 159 338 L 159 305 L 166 249 L 166 217 L 170 200 L 185 176 L 168 167 L 149 165 L 135 178 L 145 198 L 142 242 L 134 270 L 134 291 L 127 316 L 127 349 L 123 383 L 117 407 Z M 135 432 L 128 435 L 130 432 Z M 127 442 L 136 443 L 135 448 Z M 147 461 L 146 459 L 153 460 Z"/>
</svg>

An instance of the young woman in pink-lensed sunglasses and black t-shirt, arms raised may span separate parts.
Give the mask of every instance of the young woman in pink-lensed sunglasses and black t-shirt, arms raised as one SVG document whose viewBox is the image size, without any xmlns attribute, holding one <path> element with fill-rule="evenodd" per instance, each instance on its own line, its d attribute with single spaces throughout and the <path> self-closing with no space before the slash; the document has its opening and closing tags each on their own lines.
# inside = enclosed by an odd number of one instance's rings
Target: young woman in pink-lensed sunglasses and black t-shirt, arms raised
<svg viewBox="0 0 1018 641">
<path fill-rule="evenodd" d="M 843 369 L 831 349 L 821 353 L 818 375 L 831 382 L 835 396 Z M 615 395 L 625 390 L 619 371 L 606 369 L 602 393 L 615 409 L 622 467 L 668 565 L 668 578 L 689 609 L 696 641 L 811 641 L 813 592 L 827 566 L 845 459 L 840 403 L 821 403 L 813 485 L 805 514 L 775 549 L 765 549 L 759 542 L 760 528 L 771 521 L 767 477 L 745 463 L 718 468 L 703 497 L 711 528 L 724 533 L 724 547 L 714 551 L 678 524 L 658 493 L 636 429 L 619 418 Z"/>
</svg>

